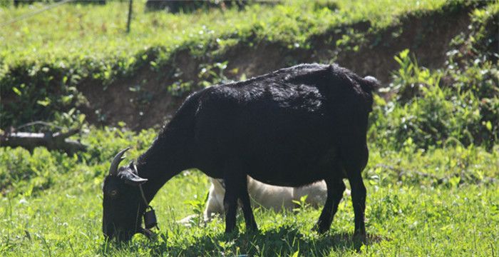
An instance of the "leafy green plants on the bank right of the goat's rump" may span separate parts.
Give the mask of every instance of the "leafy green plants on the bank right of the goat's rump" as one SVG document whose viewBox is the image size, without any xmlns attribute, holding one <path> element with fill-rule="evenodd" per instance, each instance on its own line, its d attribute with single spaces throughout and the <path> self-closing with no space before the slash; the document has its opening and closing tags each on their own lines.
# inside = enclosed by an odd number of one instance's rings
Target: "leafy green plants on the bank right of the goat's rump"
<svg viewBox="0 0 499 257">
<path fill-rule="evenodd" d="M 388 101 L 375 96 L 369 137 L 380 146 L 401 149 L 441 147 L 458 142 L 489 150 L 499 138 L 499 69 L 497 43 L 499 6 L 471 14 L 469 34 L 453 39 L 446 69 L 418 66 L 408 50 L 395 56 Z M 495 29 L 494 29 L 495 28 Z"/>
</svg>

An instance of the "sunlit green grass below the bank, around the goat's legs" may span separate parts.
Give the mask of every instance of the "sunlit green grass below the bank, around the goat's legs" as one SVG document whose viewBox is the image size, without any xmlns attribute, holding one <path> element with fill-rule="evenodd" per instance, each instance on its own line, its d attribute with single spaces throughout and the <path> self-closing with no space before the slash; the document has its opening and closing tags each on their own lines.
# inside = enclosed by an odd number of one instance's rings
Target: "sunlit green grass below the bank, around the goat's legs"
<svg viewBox="0 0 499 257">
<path fill-rule="evenodd" d="M 0 253 L 290 256 L 299 251 L 300 256 L 490 256 L 499 249 L 499 191 L 493 181 L 499 176 L 499 149 L 488 152 L 476 146 L 428 151 L 406 146 L 390 151 L 371 145 L 364 171 L 369 244 L 360 249 L 351 241 L 354 212 L 349 197 L 340 203 L 333 226 L 324 236 L 311 231 L 319 210 L 309 207 L 297 213 L 257 209 L 259 233 L 245 233 L 242 217 L 238 218 L 240 233 L 232 236 L 224 235 L 220 218 L 207 226 L 180 226 L 175 221 L 199 211 L 188 202 L 205 201 L 209 183 L 200 171 L 176 176 L 154 199 L 161 228 L 155 241 L 137 235 L 125 245 L 106 243 L 101 233 L 101 184 L 108 159 L 126 143 L 135 146 L 129 157 L 135 158 L 154 136 L 154 131 L 91 129 L 83 141 L 94 147 L 73 158 L 44 148 L 32 155 L 16 149 L 24 163 L 11 169 L 1 166 L 1 176 L 37 166 L 50 173 L 32 173 L 24 182 L 12 179 L 14 185 L 3 186 L 11 190 L 4 191 L 0 200 Z M 3 158 L 13 152 L 0 148 Z M 33 190 L 41 179 L 51 183 Z"/>
</svg>

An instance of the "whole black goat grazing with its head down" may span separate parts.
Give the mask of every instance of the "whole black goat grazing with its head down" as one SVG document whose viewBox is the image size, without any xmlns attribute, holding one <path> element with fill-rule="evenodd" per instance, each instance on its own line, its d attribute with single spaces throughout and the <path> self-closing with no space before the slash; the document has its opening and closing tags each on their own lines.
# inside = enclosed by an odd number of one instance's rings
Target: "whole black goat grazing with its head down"
<svg viewBox="0 0 499 257">
<path fill-rule="evenodd" d="M 365 238 L 367 119 L 377 81 L 336 65 L 302 64 L 247 81 L 212 86 L 189 96 L 136 163 L 115 156 L 103 186 L 103 233 L 129 240 L 140 214 L 173 176 L 199 168 L 225 180 L 225 232 L 235 230 L 237 199 L 246 227 L 257 229 L 246 176 L 277 186 L 324 179 L 327 199 L 317 230 L 331 226 L 348 178 L 354 235 Z"/>
</svg>

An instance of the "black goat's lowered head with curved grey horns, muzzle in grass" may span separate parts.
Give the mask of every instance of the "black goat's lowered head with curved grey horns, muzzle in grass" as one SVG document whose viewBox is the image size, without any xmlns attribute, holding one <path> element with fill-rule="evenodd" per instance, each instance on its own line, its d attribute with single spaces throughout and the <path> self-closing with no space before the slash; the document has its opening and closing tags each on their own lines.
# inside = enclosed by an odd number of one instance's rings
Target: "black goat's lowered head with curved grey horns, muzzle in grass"
<svg viewBox="0 0 499 257">
<path fill-rule="evenodd" d="M 116 154 L 103 186 L 102 230 L 107 238 L 115 237 L 119 241 L 130 240 L 135 233 L 145 233 L 141 217 L 147 206 L 140 196 L 139 186 L 148 180 L 138 176 L 133 163 L 118 168 L 127 150 Z"/>
</svg>

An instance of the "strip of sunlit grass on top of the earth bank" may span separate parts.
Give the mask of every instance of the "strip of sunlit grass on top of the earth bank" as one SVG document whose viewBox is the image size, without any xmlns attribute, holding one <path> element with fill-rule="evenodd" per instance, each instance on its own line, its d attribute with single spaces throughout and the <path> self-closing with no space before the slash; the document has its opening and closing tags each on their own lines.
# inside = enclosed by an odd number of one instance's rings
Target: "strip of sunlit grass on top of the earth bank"
<svg viewBox="0 0 499 257">
<path fill-rule="evenodd" d="M 130 34 L 125 34 L 128 4 L 109 1 L 105 6 L 66 4 L 29 19 L 2 26 L 0 57 L 4 65 L 20 61 L 42 61 L 60 65 L 93 59 L 96 64 L 123 59 L 133 63 L 140 51 L 161 46 L 163 54 L 196 41 L 206 44 L 220 38 L 218 44 L 231 44 L 256 30 L 257 37 L 269 41 L 303 43 L 311 34 L 331 26 L 368 20 L 374 26 L 395 23 L 408 11 L 438 9 L 445 1 L 338 1 L 338 10 L 317 8 L 306 1 L 285 1 L 276 6 L 252 5 L 244 11 L 200 11 L 195 14 L 145 12 L 143 1 L 134 1 Z M 0 8 L 0 20 L 9 21 L 43 7 Z M 389 14 L 389 15 L 386 15 Z M 245 16 L 246 19 L 240 19 Z"/>
</svg>

